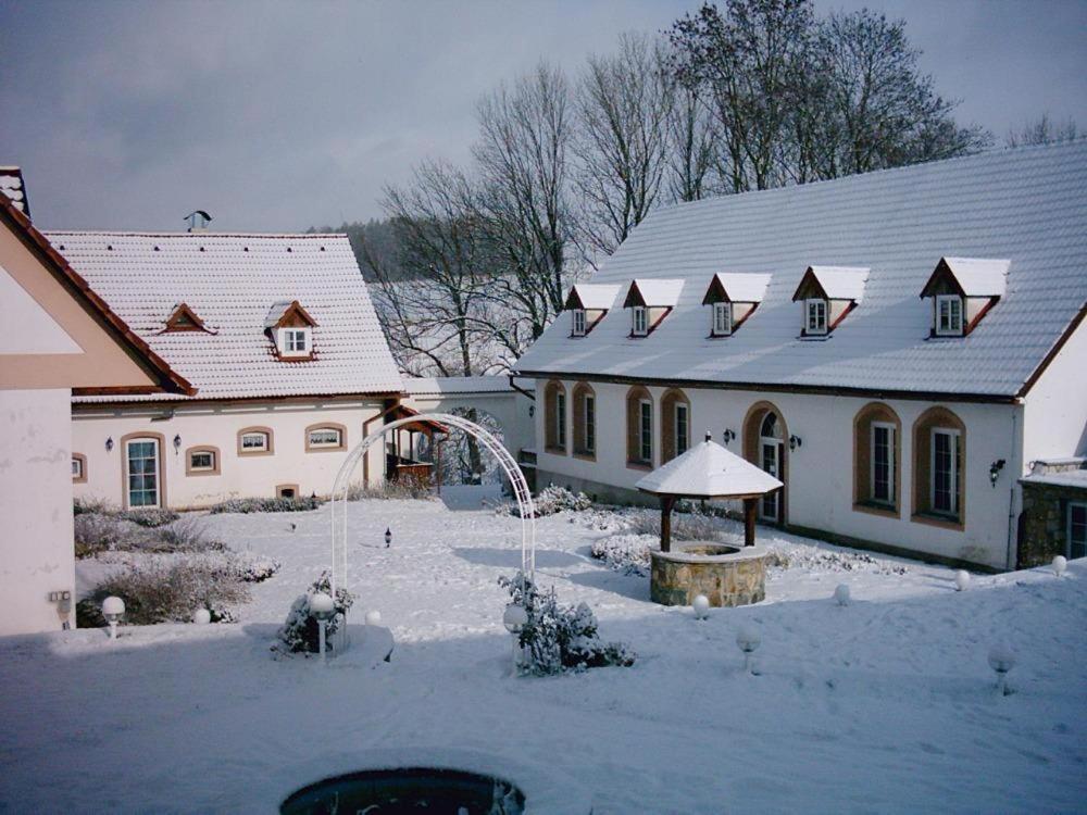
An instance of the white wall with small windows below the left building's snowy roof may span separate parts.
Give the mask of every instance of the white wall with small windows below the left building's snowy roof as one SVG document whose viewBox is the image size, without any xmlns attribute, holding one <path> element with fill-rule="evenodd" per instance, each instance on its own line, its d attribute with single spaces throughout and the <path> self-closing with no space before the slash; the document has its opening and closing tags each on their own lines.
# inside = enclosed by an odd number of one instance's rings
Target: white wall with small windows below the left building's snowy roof
<svg viewBox="0 0 1087 815">
<path fill-rule="evenodd" d="M 87 482 L 75 485 L 76 497 L 103 498 L 122 505 L 125 452 L 121 439 L 135 432 L 164 437 L 165 499 L 171 507 L 208 506 L 229 498 L 274 497 L 276 486 L 283 484 L 297 484 L 301 496 L 312 492 L 327 496 L 347 451 L 363 439 L 363 423 L 378 415 L 383 405 L 371 400 L 240 405 L 196 403 L 178 405 L 172 418 L 162 419 L 166 415 L 164 410 L 161 405 L 146 404 L 123 409 L 76 405 L 72 451 L 87 456 Z M 347 451 L 307 452 L 305 428 L 323 422 L 347 427 Z M 250 426 L 272 428 L 272 455 L 238 455 L 238 431 Z M 378 419 L 371 423 L 368 430 L 380 426 Z M 182 437 L 180 450 L 176 452 L 175 436 Z M 114 441 L 110 452 L 105 450 L 108 438 Z M 186 475 L 186 450 L 198 446 L 218 448 L 221 475 Z M 375 444 L 367 456 L 371 482 L 380 482 L 385 472 L 383 447 Z M 361 463 L 354 480 L 362 480 Z"/>
</svg>

